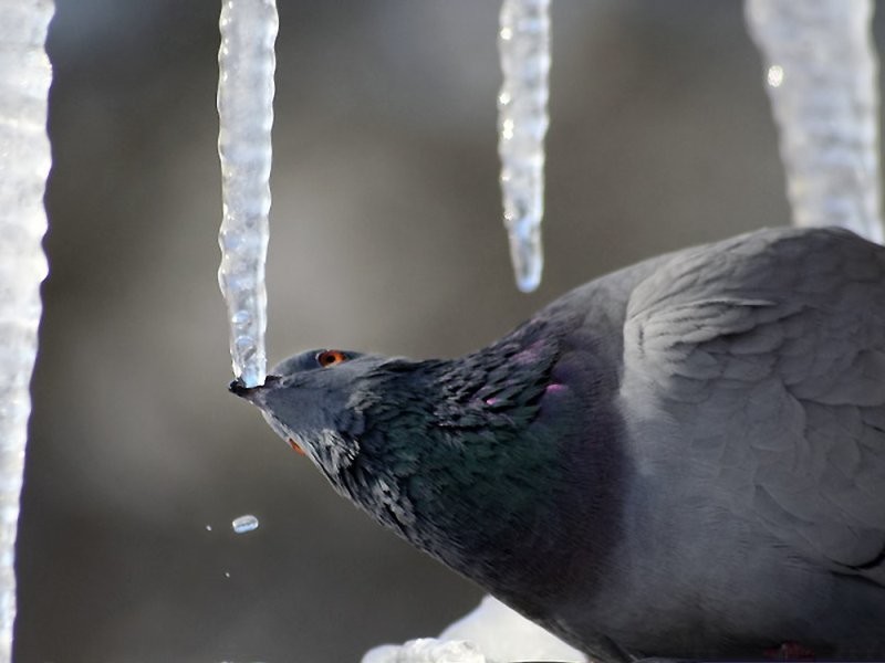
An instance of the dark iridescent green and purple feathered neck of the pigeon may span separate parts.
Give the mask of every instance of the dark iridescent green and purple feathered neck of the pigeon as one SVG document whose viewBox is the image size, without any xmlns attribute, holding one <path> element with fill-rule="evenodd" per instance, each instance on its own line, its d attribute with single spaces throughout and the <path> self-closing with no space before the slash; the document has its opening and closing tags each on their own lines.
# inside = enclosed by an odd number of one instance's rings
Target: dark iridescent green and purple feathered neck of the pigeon
<svg viewBox="0 0 885 663">
<path fill-rule="evenodd" d="M 559 357 L 527 326 L 462 359 L 404 365 L 366 418 L 352 498 L 498 596 L 558 592 L 575 564 L 563 543 L 592 527 L 600 478 L 573 455 L 591 428 L 575 412 L 592 418 L 591 404 L 571 393 L 582 407 L 559 417 L 566 396 L 549 398 Z"/>
</svg>

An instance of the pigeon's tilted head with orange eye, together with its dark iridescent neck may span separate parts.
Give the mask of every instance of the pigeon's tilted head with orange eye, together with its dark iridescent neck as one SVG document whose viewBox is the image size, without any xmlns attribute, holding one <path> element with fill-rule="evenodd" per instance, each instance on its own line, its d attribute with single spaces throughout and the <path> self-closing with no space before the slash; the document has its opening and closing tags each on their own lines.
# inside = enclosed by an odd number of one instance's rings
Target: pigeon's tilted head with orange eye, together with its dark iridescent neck
<svg viewBox="0 0 885 663">
<path fill-rule="evenodd" d="M 584 467 L 561 460 L 580 422 L 558 415 L 574 398 L 552 382 L 558 356 L 555 338 L 528 327 L 451 360 L 312 350 L 281 362 L 261 387 L 235 380 L 230 390 L 340 494 L 500 588 L 491 578 L 502 559 L 523 559 L 534 573 L 529 558 L 555 555 L 540 529 L 525 527 L 556 526 L 560 495 Z"/>
</svg>

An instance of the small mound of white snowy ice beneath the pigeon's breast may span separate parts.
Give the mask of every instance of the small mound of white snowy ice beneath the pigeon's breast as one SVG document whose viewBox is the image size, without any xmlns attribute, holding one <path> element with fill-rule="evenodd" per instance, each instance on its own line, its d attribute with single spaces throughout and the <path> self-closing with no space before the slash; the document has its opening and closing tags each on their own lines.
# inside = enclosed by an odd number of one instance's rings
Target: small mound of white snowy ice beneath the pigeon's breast
<svg viewBox="0 0 885 663">
<path fill-rule="evenodd" d="M 450 646 L 451 649 L 446 649 Z M 433 659 L 445 652 L 448 657 Z M 477 657 L 480 656 L 480 657 Z M 476 610 L 442 631 L 439 640 L 413 640 L 402 646 L 386 644 L 366 653 L 362 663 L 509 663 L 560 661 L 585 663 L 586 656 L 555 635 L 486 597 Z"/>
</svg>

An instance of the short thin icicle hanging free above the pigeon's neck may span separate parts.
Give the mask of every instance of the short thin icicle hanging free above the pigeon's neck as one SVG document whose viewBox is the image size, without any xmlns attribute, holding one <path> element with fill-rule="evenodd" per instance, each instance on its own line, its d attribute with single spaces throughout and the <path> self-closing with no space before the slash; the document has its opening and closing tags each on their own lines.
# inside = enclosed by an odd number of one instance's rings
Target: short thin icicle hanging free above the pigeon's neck
<svg viewBox="0 0 885 663">
<path fill-rule="evenodd" d="M 504 0 L 498 48 L 498 152 L 510 256 L 522 292 L 541 283 L 544 134 L 550 71 L 550 0 Z"/>
</svg>

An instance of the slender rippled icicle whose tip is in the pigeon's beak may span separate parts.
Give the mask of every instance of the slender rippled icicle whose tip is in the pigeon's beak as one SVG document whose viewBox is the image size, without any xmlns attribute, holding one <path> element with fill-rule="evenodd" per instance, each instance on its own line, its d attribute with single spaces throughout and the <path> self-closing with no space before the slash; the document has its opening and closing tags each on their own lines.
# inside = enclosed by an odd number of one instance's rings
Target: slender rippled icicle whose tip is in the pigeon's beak
<svg viewBox="0 0 885 663">
<path fill-rule="evenodd" d="M 233 373 L 264 383 L 273 70 L 273 0 L 223 0 L 218 52 L 218 155 L 223 220 L 218 283 L 228 306 Z"/>
</svg>

